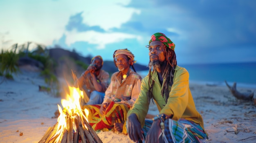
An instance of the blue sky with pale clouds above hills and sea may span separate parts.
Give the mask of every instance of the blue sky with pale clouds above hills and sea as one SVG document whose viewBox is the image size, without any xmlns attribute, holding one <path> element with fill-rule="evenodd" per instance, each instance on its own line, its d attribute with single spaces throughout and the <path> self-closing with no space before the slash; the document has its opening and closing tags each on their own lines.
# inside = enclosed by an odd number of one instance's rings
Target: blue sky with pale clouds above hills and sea
<svg viewBox="0 0 256 143">
<path fill-rule="evenodd" d="M 256 62 L 255 0 L 0 0 L 0 49 L 59 46 L 113 60 L 128 48 L 149 62 L 151 35 L 175 43 L 177 64 Z"/>
</svg>

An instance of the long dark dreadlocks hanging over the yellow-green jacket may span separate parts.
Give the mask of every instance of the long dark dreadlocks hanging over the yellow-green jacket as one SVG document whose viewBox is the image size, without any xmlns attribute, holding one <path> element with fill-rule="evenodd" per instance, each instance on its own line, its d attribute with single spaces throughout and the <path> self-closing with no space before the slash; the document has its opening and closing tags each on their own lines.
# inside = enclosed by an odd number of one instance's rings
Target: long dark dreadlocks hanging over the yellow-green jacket
<svg viewBox="0 0 256 143">
<path fill-rule="evenodd" d="M 162 84 L 162 86 L 164 86 L 161 90 L 161 95 L 162 97 L 165 96 L 165 103 L 167 103 L 167 99 L 169 97 L 169 91 L 168 91 L 168 86 L 172 86 L 173 85 L 173 76 L 174 76 L 174 72 L 175 72 L 175 67 L 177 65 L 177 60 L 176 60 L 176 55 L 174 50 L 172 50 L 171 48 L 166 47 L 166 51 L 164 51 L 164 55 L 165 55 L 165 59 L 167 62 L 167 65 L 164 69 L 164 73 L 163 73 L 163 78 L 166 79 L 164 81 L 164 83 Z M 155 84 L 154 81 L 152 81 L 151 85 L 150 85 L 150 79 L 151 79 L 151 69 L 153 68 L 153 72 L 155 72 L 155 66 L 152 67 L 152 65 L 148 64 L 149 66 L 149 72 L 148 72 L 148 82 L 149 82 L 149 90 L 147 93 L 148 96 L 148 103 L 150 102 L 150 99 L 152 99 L 153 101 L 153 86 Z"/>
</svg>

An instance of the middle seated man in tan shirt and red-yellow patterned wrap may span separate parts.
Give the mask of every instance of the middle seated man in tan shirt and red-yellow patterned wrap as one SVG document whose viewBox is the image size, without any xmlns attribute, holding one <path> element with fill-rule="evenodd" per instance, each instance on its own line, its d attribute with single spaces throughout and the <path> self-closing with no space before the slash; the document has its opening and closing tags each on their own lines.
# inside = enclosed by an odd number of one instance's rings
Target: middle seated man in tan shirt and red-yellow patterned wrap
<svg viewBox="0 0 256 143">
<path fill-rule="evenodd" d="M 87 118 L 95 131 L 115 130 L 127 134 L 126 114 L 139 95 L 141 76 L 130 69 L 135 61 L 129 50 L 117 50 L 113 57 L 119 71 L 113 73 L 103 103 L 86 105 L 83 109 L 89 110 Z"/>
</svg>

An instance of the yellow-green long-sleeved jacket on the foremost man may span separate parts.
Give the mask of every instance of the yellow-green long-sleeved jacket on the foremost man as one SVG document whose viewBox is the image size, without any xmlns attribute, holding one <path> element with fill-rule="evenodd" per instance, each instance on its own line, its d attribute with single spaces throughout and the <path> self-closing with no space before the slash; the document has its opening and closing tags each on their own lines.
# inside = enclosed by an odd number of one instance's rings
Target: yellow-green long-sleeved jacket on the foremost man
<svg viewBox="0 0 256 143">
<path fill-rule="evenodd" d="M 167 103 L 165 103 L 165 99 L 161 95 L 162 85 L 159 82 L 157 71 L 155 70 L 150 74 L 152 77 L 151 79 L 149 79 L 148 75 L 142 79 L 141 92 L 132 106 L 132 109 L 128 111 L 127 117 L 130 114 L 135 113 L 139 122 L 141 123 L 141 127 L 143 127 L 149 106 L 147 92 L 150 84 L 154 80 L 155 84 L 153 86 L 153 99 L 157 105 L 159 114 L 173 114 L 172 119 L 175 121 L 183 118 L 195 123 L 199 123 L 204 129 L 202 116 L 195 108 L 195 103 L 189 89 L 189 72 L 185 68 L 176 66 L 173 85 L 169 86 L 169 91 L 171 90 L 171 92 L 169 93 Z M 164 79 L 164 81 L 165 80 L 166 79 Z"/>
</svg>

